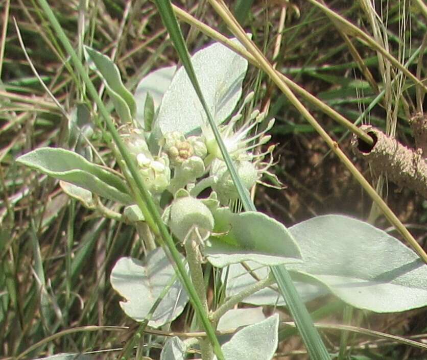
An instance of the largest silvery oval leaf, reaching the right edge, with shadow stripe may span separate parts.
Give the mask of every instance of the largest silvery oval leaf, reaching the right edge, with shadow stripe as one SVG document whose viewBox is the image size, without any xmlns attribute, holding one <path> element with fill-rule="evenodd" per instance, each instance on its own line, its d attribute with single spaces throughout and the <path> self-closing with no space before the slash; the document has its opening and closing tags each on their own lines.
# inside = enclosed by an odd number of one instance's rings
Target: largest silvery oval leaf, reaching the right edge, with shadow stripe
<svg viewBox="0 0 427 360">
<path fill-rule="evenodd" d="M 324 283 L 348 304 L 377 313 L 427 305 L 427 265 L 385 231 L 343 215 L 313 218 L 289 231 L 304 258 L 289 270 Z"/>
</svg>

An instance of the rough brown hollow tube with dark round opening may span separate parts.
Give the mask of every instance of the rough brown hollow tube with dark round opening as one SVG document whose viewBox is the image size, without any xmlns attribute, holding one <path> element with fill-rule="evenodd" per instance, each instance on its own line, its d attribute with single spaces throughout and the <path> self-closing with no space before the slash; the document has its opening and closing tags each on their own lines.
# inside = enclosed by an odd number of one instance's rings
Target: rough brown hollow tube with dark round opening
<svg viewBox="0 0 427 360">
<path fill-rule="evenodd" d="M 371 126 L 361 126 L 361 130 L 372 137 L 373 145 L 357 137 L 352 139 L 351 145 L 359 157 L 370 163 L 374 173 L 385 172 L 398 186 L 411 188 L 427 199 L 427 163 L 422 151 L 408 149 Z"/>
</svg>

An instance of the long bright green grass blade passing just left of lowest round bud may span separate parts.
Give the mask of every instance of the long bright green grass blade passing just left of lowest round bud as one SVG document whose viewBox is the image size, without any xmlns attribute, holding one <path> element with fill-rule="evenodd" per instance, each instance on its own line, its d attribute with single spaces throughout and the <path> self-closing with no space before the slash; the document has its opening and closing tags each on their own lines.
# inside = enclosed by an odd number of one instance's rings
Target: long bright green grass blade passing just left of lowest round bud
<svg viewBox="0 0 427 360">
<path fill-rule="evenodd" d="M 188 292 L 188 295 L 193 303 L 197 316 L 200 319 L 201 323 L 203 324 L 205 331 L 208 334 L 208 337 L 213 344 L 213 348 L 215 349 L 215 352 L 218 358 L 224 360 L 224 356 L 222 355 L 220 345 L 215 335 L 215 331 L 213 330 L 209 322 L 209 319 L 207 318 L 207 314 L 205 314 L 203 310 L 203 306 L 201 304 L 199 297 L 197 296 L 194 285 L 185 271 L 184 264 L 179 258 L 179 252 L 175 247 L 172 236 L 169 234 L 167 227 L 164 225 L 163 221 L 161 220 L 161 217 L 159 212 L 157 211 L 156 205 L 153 199 L 151 198 L 150 193 L 148 192 L 147 188 L 144 185 L 144 180 L 141 178 L 136 168 L 136 165 L 131 158 L 131 155 L 127 151 L 126 146 L 124 145 L 124 142 L 120 138 L 120 135 L 118 134 L 104 103 L 102 102 L 101 98 L 98 95 L 97 89 L 93 86 L 92 82 L 90 81 L 89 76 L 87 75 L 82 62 L 80 61 L 79 57 L 77 56 L 74 50 L 73 45 L 69 42 L 67 36 L 62 30 L 62 27 L 58 22 L 57 18 L 55 17 L 49 4 L 46 2 L 46 0 L 38 0 L 38 3 L 40 7 L 43 9 L 44 13 L 46 14 L 46 17 L 48 17 L 49 21 L 51 22 L 51 25 L 54 28 L 60 42 L 64 46 L 77 72 L 79 73 L 84 84 L 86 85 L 87 92 L 98 105 L 98 109 L 101 113 L 101 116 L 104 118 L 106 127 L 109 133 L 111 134 L 111 137 L 114 140 L 115 145 L 117 146 L 117 149 L 120 152 L 120 155 L 123 157 L 129 169 L 129 172 L 132 177 L 131 180 L 136 185 L 134 195 L 138 203 L 138 206 L 141 208 L 141 211 L 143 211 L 144 216 L 147 220 L 152 219 L 152 222 L 149 223 L 150 227 L 153 229 L 153 231 L 155 231 L 161 236 L 164 243 L 167 245 L 172 258 L 176 263 L 178 275 L 180 276 L 185 286 L 185 289 Z"/>
</svg>

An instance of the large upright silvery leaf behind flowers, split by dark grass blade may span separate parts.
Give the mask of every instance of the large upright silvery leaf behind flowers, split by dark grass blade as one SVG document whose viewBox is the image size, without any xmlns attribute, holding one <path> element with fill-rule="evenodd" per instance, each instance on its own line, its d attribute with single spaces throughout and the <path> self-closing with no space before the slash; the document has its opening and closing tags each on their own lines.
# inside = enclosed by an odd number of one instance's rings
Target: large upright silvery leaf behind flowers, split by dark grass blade
<svg viewBox="0 0 427 360">
<path fill-rule="evenodd" d="M 232 40 L 239 43 L 238 40 Z M 248 62 L 221 43 L 196 52 L 192 64 L 211 114 L 217 124 L 230 115 L 242 95 Z M 154 132 L 158 138 L 170 131 L 191 133 L 200 129 L 207 117 L 183 67 L 179 68 L 164 93 Z"/>
</svg>

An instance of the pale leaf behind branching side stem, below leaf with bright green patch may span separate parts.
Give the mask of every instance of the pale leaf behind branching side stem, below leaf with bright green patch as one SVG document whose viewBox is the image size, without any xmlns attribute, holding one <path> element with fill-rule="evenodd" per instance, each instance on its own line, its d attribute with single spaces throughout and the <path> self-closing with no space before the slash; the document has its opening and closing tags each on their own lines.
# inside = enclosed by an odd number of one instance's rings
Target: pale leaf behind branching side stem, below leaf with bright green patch
<svg viewBox="0 0 427 360">
<path fill-rule="evenodd" d="M 264 279 L 269 274 L 268 267 L 261 266 L 256 262 L 246 261 L 245 265 L 252 270 L 258 279 Z M 226 275 L 227 282 L 225 293 L 227 297 L 232 297 L 240 293 L 257 281 L 241 264 L 230 265 L 228 273 L 225 271 L 223 272 L 222 281 L 226 280 Z M 328 293 L 326 288 L 321 285 L 301 281 L 294 281 L 294 284 L 301 300 L 304 302 L 311 301 Z M 242 302 L 252 305 L 286 306 L 286 302 L 283 300 L 283 297 L 280 295 L 275 285 L 265 287 L 263 290 L 246 297 Z"/>
</svg>

